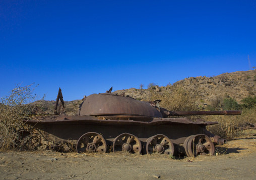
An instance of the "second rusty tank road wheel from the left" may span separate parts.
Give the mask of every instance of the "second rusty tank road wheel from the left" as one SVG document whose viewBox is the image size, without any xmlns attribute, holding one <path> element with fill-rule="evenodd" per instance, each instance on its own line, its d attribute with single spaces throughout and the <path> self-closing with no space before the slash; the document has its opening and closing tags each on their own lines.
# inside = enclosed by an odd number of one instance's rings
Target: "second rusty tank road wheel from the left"
<svg viewBox="0 0 256 180">
<path fill-rule="evenodd" d="M 128 151 L 140 153 L 142 149 L 141 141 L 133 134 L 123 133 L 117 136 L 113 142 L 113 151 Z"/>
</svg>

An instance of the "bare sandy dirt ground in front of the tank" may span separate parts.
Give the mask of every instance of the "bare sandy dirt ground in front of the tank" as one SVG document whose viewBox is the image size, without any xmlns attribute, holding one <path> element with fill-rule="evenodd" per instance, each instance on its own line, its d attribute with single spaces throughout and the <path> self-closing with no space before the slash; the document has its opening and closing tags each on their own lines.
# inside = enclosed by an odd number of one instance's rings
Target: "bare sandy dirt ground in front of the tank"
<svg viewBox="0 0 256 180">
<path fill-rule="evenodd" d="M 256 136 L 216 146 L 216 153 L 179 159 L 165 154 L 0 151 L 0 179 L 256 178 Z"/>
</svg>

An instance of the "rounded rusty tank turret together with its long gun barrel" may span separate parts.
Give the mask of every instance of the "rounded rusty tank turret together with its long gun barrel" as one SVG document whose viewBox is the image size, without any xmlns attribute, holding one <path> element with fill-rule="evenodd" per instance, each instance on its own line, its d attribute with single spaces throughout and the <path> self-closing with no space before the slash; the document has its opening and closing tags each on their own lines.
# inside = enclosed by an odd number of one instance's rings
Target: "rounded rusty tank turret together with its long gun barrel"
<svg viewBox="0 0 256 180">
<path fill-rule="evenodd" d="M 241 111 L 168 111 L 160 107 L 161 100 L 139 101 L 124 95 L 100 93 L 88 96 L 81 104 L 78 115 L 101 119 L 144 120 L 187 115 L 240 115 Z"/>
</svg>

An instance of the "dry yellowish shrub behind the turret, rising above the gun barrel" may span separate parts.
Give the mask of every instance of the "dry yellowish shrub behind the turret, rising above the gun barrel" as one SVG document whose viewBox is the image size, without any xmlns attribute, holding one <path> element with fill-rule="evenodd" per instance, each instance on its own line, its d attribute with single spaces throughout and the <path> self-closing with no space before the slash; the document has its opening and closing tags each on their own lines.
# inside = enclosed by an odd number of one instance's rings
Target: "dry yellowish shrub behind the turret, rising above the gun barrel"
<svg viewBox="0 0 256 180">
<path fill-rule="evenodd" d="M 179 86 L 170 86 L 168 91 L 156 92 L 153 91 L 148 97 L 144 98 L 146 101 L 162 100 L 161 107 L 169 111 L 189 111 L 195 110 L 195 100 L 191 98 L 189 92 Z"/>
</svg>

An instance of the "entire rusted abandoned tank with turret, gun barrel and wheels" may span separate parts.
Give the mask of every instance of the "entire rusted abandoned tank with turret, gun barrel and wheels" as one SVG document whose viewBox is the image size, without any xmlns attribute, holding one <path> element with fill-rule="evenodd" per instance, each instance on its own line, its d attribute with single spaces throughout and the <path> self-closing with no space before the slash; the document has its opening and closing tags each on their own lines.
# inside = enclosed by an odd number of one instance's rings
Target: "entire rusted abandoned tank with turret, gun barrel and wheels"
<svg viewBox="0 0 256 180">
<path fill-rule="evenodd" d="M 83 99 L 77 115 L 57 112 L 64 108 L 59 88 L 55 114 L 34 114 L 24 119 L 21 143 L 32 149 L 57 151 L 165 153 L 213 155 L 226 139 L 206 130 L 218 122 L 171 118 L 185 115 L 239 115 L 241 111 L 168 111 L 160 100 L 145 102 L 106 91 Z"/>
</svg>

